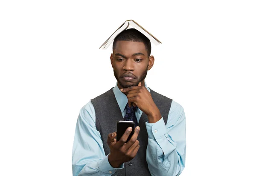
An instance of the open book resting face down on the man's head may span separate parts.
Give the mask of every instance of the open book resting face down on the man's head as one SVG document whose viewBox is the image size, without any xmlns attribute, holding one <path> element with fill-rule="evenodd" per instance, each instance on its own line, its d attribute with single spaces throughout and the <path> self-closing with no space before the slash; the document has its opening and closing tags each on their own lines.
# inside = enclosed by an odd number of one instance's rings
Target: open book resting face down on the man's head
<svg viewBox="0 0 256 176">
<path fill-rule="evenodd" d="M 161 42 L 157 40 L 156 37 L 154 37 L 152 34 L 150 34 L 147 30 L 145 30 L 142 26 L 140 26 L 138 23 L 136 23 L 134 20 L 126 20 L 125 23 L 122 23 L 122 25 L 116 29 L 116 31 L 108 38 L 100 49 L 107 49 L 108 46 L 113 42 L 113 40 L 116 38 L 118 34 L 120 34 L 122 31 L 128 29 L 128 28 L 135 28 L 138 31 L 140 31 L 142 34 L 144 34 L 148 39 L 153 42 L 155 45 L 159 45 Z"/>
</svg>

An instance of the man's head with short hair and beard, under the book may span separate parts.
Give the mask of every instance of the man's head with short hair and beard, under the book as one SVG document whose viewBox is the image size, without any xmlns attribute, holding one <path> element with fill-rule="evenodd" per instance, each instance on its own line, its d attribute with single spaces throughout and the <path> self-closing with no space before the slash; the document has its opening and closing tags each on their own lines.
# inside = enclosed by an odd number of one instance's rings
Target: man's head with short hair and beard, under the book
<svg viewBox="0 0 256 176">
<path fill-rule="evenodd" d="M 111 65 L 119 88 L 144 85 L 147 71 L 154 64 L 150 56 L 151 43 L 140 31 L 127 29 L 116 36 L 113 41 Z"/>
</svg>

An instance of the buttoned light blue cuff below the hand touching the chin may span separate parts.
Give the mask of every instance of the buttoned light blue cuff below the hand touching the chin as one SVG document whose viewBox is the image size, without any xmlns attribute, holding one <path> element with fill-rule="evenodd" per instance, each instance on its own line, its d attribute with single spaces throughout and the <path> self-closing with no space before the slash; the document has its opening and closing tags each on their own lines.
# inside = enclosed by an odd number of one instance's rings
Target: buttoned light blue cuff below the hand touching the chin
<svg viewBox="0 0 256 176">
<path fill-rule="evenodd" d="M 145 125 L 148 131 L 149 139 L 157 139 L 167 134 L 167 128 L 163 121 L 163 117 L 155 123 L 146 122 Z"/>
</svg>

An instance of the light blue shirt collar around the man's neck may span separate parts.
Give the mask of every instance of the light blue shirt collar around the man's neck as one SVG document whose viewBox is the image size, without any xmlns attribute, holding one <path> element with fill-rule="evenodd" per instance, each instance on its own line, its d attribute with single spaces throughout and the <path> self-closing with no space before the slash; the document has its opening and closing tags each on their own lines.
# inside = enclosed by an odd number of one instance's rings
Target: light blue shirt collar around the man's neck
<svg viewBox="0 0 256 176">
<path fill-rule="evenodd" d="M 149 88 L 147 87 L 147 84 L 145 82 L 145 87 L 148 89 L 149 91 Z M 119 108 L 121 110 L 121 112 L 123 112 L 125 110 L 125 106 L 128 102 L 128 99 L 126 97 L 126 95 L 124 93 L 122 93 L 120 91 L 120 89 L 117 87 L 117 82 L 116 82 L 116 86 L 113 88 L 113 92 L 115 94 L 115 97 L 116 97 L 116 101 L 119 105 Z"/>
</svg>

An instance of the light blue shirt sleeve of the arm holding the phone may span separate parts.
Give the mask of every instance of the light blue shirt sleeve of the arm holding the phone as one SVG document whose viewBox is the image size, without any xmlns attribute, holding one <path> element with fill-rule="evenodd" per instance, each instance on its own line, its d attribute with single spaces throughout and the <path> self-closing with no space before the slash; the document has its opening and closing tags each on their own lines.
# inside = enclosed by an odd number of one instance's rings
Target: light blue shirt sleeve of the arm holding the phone
<svg viewBox="0 0 256 176">
<path fill-rule="evenodd" d="M 72 150 L 73 176 L 116 176 L 124 167 L 113 168 L 105 156 L 103 142 L 95 125 L 95 110 L 88 102 L 81 108 Z"/>
</svg>

